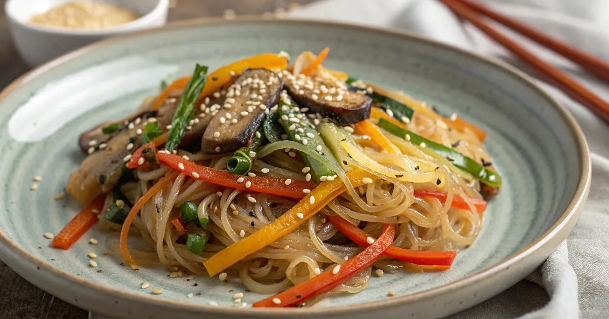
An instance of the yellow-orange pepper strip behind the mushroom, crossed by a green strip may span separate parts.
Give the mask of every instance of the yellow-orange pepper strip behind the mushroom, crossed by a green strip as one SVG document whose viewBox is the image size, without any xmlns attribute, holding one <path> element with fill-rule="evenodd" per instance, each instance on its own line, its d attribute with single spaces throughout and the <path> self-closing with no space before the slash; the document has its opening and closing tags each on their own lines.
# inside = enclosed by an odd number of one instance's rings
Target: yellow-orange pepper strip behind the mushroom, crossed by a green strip
<svg viewBox="0 0 609 319">
<path fill-rule="evenodd" d="M 225 66 L 221 66 L 218 70 L 208 74 L 207 84 L 205 85 L 205 88 L 203 88 L 203 91 L 201 91 L 199 98 L 205 98 L 205 96 L 211 95 L 224 84 L 229 82 L 233 78 L 233 74 L 242 73 L 248 68 L 283 70 L 287 68 L 287 59 L 283 56 L 280 56 L 279 54 L 263 53 L 257 54 L 256 56 L 246 57 L 245 59 L 238 60 Z M 157 110 L 159 107 L 161 107 L 161 105 L 163 105 L 163 102 L 169 97 L 169 94 L 172 90 L 185 88 L 190 78 L 191 76 L 180 77 L 180 79 L 177 79 L 172 84 L 167 85 L 167 87 L 155 100 L 154 104 L 152 104 L 150 110 Z"/>
</svg>

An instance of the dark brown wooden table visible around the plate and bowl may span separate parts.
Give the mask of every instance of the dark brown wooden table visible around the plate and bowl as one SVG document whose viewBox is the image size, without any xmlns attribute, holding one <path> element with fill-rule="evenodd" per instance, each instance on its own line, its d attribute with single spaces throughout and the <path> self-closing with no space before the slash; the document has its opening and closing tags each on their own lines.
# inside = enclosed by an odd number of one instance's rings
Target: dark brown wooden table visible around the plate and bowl
<svg viewBox="0 0 609 319">
<path fill-rule="evenodd" d="M 298 4 L 315 0 L 172 0 L 169 21 L 205 16 L 223 16 L 232 9 L 236 15 L 262 15 L 294 9 Z M 30 68 L 21 60 L 12 44 L 0 0 L 0 90 Z M 55 298 L 19 277 L 0 260 L 0 319 L 85 319 L 88 312 Z"/>
</svg>

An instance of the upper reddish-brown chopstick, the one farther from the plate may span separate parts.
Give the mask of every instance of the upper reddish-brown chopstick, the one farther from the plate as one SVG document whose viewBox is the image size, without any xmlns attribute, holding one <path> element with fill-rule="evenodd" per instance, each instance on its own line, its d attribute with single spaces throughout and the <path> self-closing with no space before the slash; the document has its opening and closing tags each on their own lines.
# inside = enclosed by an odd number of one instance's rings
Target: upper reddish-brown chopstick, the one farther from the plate
<svg viewBox="0 0 609 319">
<path fill-rule="evenodd" d="M 522 34 L 525 37 L 536 41 L 540 45 L 543 45 L 561 56 L 579 64 L 583 69 L 588 71 L 588 73 L 593 74 L 599 79 L 609 83 L 609 63 L 605 62 L 605 60 L 599 59 L 598 57 L 588 54 L 588 52 L 577 49 L 574 46 L 570 46 L 560 40 L 550 37 L 549 35 L 543 34 L 542 32 L 539 32 L 538 30 L 535 30 L 524 23 L 502 15 L 501 13 L 490 9 L 485 5 L 470 0 L 459 0 L 459 2 L 466 5 L 471 10 L 488 16 L 488 18 L 491 18 L 498 23 L 515 30 L 519 34 Z"/>
</svg>

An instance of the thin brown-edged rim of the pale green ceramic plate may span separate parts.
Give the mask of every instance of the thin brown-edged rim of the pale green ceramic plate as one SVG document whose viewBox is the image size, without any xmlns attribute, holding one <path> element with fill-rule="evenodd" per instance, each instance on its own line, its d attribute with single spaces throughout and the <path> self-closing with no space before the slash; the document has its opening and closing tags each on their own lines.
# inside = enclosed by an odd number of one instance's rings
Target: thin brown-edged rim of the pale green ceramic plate
<svg viewBox="0 0 609 319">
<path fill-rule="evenodd" d="M 577 217 L 579 217 L 579 213 L 582 210 L 583 204 L 585 204 L 585 200 L 588 196 L 588 192 L 590 190 L 590 182 L 591 182 L 591 159 L 590 159 L 590 149 L 588 148 L 588 143 L 586 142 L 585 135 L 576 119 L 572 116 L 571 112 L 563 106 L 560 102 L 557 101 L 553 96 L 549 95 L 546 91 L 543 90 L 539 85 L 535 84 L 532 77 L 516 69 L 514 66 L 511 66 L 501 60 L 494 59 L 492 57 L 485 57 L 475 52 L 466 51 L 465 49 L 458 48 L 457 46 L 452 46 L 446 43 L 442 43 L 440 41 L 432 40 L 430 38 L 423 37 L 422 35 L 415 34 L 414 32 L 410 32 L 408 30 L 396 29 L 396 28 L 383 28 L 383 27 L 375 27 L 375 26 L 365 26 L 362 24 L 355 23 L 345 23 L 340 21 L 323 21 L 323 20 L 313 20 L 313 19 L 303 19 L 303 18 L 262 18 L 261 16 L 238 16 L 234 20 L 225 20 L 224 18 L 198 18 L 191 20 L 178 21 L 174 23 L 170 23 L 164 27 L 157 27 L 153 29 L 146 30 L 138 30 L 129 34 L 122 34 L 116 37 L 107 38 L 105 40 L 97 41 L 91 45 L 84 46 L 82 48 L 76 49 L 74 51 L 68 52 L 59 56 L 55 59 L 50 60 L 49 62 L 43 63 L 40 66 L 33 68 L 27 73 L 19 76 L 13 82 L 11 82 L 7 87 L 5 87 L 2 91 L 0 91 L 0 101 L 4 100 L 6 96 L 10 95 L 10 93 L 18 88 L 22 84 L 27 84 L 31 79 L 38 76 L 40 73 L 45 73 L 48 70 L 52 70 L 58 66 L 62 66 L 63 63 L 68 62 L 69 60 L 75 59 L 77 57 L 86 55 L 91 51 L 96 51 L 98 48 L 103 48 L 104 46 L 109 45 L 110 43 L 125 41 L 130 38 L 137 38 L 141 35 L 153 34 L 156 32 L 163 32 L 166 30 L 177 30 L 177 29 L 188 29 L 189 27 L 194 26 L 210 26 L 213 24 L 247 24 L 247 23 L 302 23 L 302 24 L 312 24 L 316 26 L 327 26 L 327 27 L 348 27 L 354 30 L 366 30 L 372 32 L 378 32 L 386 35 L 394 35 L 399 37 L 406 38 L 414 38 L 417 41 L 421 41 L 427 43 L 429 45 L 438 46 L 442 49 L 456 52 L 457 54 L 462 54 L 465 56 L 469 56 L 473 59 L 482 60 L 487 63 L 491 67 L 500 68 L 503 71 L 509 73 L 511 76 L 515 77 L 519 81 L 523 82 L 523 84 L 528 85 L 533 90 L 537 91 L 537 93 L 545 98 L 549 104 L 554 107 L 555 110 L 558 111 L 558 114 L 566 121 L 571 134 L 575 138 L 576 146 L 578 149 L 577 156 L 580 160 L 579 167 L 579 180 L 577 181 L 577 187 L 571 201 L 569 201 L 568 206 L 558 218 L 558 220 L 552 224 L 552 226 L 547 229 L 544 234 L 540 235 L 537 239 L 535 239 L 532 243 L 520 249 L 516 253 L 512 254 L 512 256 L 507 257 L 507 259 L 501 260 L 501 262 L 495 263 L 490 267 L 484 268 L 482 270 L 476 271 L 473 274 L 469 274 L 463 278 L 457 279 L 456 281 L 448 282 L 447 284 L 439 285 L 437 287 L 426 289 L 420 292 L 409 293 L 407 295 L 394 296 L 392 298 L 381 299 L 376 301 L 366 301 L 364 303 L 356 303 L 356 304 L 347 304 L 341 306 L 324 306 L 324 307 L 308 307 L 308 308 L 295 308 L 295 307 L 286 307 L 286 308 L 237 308 L 237 307 L 217 307 L 217 306 L 209 306 L 207 304 L 202 303 L 188 303 L 186 301 L 179 301 L 177 299 L 163 299 L 155 296 L 142 295 L 140 293 L 128 292 L 122 289 L 116 289 L 114 287 L 110 287 L 108 285 L 99 284 L 95 281 L 87 280 L 80 278 L 68 271 L 62 270 L 59 267 L 55 267 L 51 263 L 46 263 L 44 260 L 41 260 L 32 254 L 28 253 L 25 249 L 21 248 L 21 246 L 14 243 L 10 238 L 4 233 L 2 228 L 0 228 L 0 252 L 4 249 L 12 249 L 13 253 L 17 253 L 19 257 L 22 259 L 17 260 L 17 263 L 30 262 L 33 263 L 35 267 L 44 267 L 50 273 L 54 273 L 57 276 L 63 278 L 64 281 L 68 281 L 70 284 L 77 285 L 88 285 L 89 288 L 101 290 L 103 293 L 108 293 L 113 296 L 118 296 L 122 299 L 137 299 L 139 302 L 144 302 L 147 304 L 154 304 L 155 307 L 178 307 L 183 310 L 195 311 L 195 312 L 208 312 L 208 313 L 216 313 L 223 315 L 265 315 L 271 317 L 285 316 L 285 315 L 315 315 L 315 314 L 348 314 L 351 312 L 361 312 L 365 310 L 370 310 L 378 307 L 395 307 L 400 304 L 406 303 L 414 303 L 416 301 L 420 301 L 422 299 L 431 298 L 434 295 L 441 295 L 443 293 L 450 293 L 455 290 L 462 289 L 463 287 L 467 287 L 477 282 L 484 281 L 484 279 L 490 278 L 491 276 L 495 276 L 501 273 L 504 270 L 509 269 L 513 265 L 518 264 L 519 262 L 523 262 L 527 257 L 533 256 L 538 251 L 543 248 L 552 247 L 552 251 L 555 250 L 556 246 L 568 236 L 568 234 L 572 231 L 574 224 L 577 221 Z M 571 226 L 569 228 L 569 226 Z M 565 234 L 566 232 L 566 234 Z M 558 241 L 558 243 L 556 243 Z M 4 256 L 7 256 L 7 253 L 2 253 Z M 25 277 L 25 276 L 24 276 Z M 86 305 L 85 305 L 86 306 Z M 80 307 L 77 306 L 77 307 Z"/>
</svg>

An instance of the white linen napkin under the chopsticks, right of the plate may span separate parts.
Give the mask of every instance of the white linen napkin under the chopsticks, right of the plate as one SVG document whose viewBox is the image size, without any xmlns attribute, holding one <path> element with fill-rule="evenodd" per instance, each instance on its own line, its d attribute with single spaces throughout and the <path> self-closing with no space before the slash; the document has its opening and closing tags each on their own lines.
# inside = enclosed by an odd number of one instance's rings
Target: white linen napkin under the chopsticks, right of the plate
<svg viewBox="0 0 609 319">
<path fill-rule="evenodd" d="M 609 0 L 479 0 L 571 45 L 609 60 Z M 530 73 L 509 51 L 436 0 L 326 0 L 290 16 L 400 27 L 498 57 Z M 495 24 L 497 26 L 497 24 Z M 568 60 L 499 27 L 609 101 L 609 86 Z M 532 76 L 535 74 L 530 73 Z M 592 152 L 593 181 L 576 228 L 542 267 L 505 292 L 452 318 L 609 318 L 609 127 L 585 107 L 538 81 L 579 121 Z M 545 290 L 545 291 L 544 291 Z"/>
</svg>

